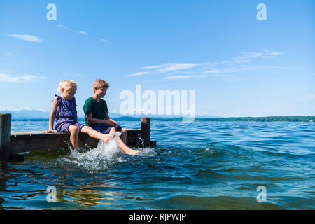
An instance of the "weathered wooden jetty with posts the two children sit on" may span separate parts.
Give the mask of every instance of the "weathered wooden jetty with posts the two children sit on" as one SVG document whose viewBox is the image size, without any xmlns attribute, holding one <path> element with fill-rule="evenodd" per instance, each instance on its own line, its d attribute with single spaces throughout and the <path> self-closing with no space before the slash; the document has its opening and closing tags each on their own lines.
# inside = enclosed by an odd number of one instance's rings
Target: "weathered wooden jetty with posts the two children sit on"
<svg viewBox="0 0 315 224">
<path fill-rule="evenodd" d="M 39 131 L 11 132 L 11 114 L 0 114 L 0 160 L 19 161 L 23 156 L 19 153 L 30 151 L 47 151 L 58 148 L 69 148 L 69 133 L 43 133 Z M 128 130 L 127 146 L 148 147 L 156 146 L 156 141 L 150 141 L 150 118 L 141 118 L 140 130 Z M 79 147 L 97 147 L 99 140 L 85 133 L 79 134 Z"/>
</svg>

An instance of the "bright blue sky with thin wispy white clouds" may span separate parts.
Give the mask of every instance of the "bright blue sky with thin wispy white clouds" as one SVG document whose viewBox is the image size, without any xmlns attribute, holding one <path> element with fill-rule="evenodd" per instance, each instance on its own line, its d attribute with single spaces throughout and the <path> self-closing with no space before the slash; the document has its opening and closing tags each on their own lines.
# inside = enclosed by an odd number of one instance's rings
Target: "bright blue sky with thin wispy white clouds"
<svg viewBox="0 0 315 224">
<path fill-rule="evenodd" d="M 80 116 L 103 78 L 112 113 L 141 85 L 195 90 L 197 115 L 314 115 L 314 25 L 313 0 L 0 0 L 0 111 L 50 111 L 71 79 Z"/>
</svg>

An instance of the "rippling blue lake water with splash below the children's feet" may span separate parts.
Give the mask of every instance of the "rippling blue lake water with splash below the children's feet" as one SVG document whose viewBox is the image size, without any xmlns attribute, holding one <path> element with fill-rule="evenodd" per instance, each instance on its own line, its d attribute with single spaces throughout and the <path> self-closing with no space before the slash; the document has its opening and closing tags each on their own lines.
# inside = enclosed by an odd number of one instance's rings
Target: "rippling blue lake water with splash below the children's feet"
<svg viewBox="0 0 315 224">
<path fill-rule="evenodd" d="M 157 146 L 141 155 L 114 145 L 25 153 L 0 172 L 0 209 L 315 209 L 314 123 L 151 120 L 151 130 Z"/>
</svg>

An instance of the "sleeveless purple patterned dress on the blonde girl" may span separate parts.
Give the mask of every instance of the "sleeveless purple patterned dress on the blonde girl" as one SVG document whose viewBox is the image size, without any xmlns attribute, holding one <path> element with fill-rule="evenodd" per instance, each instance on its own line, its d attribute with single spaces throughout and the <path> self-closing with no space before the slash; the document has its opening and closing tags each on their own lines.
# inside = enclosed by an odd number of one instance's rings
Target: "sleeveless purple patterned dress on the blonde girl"
<svg viewBox="0 0 315 224">
<path fill-rule="evenodd" d="M 56 130 L 57 132 L 69 132 L 69 126 L 75 125 L 79 128 L 80 132 L 83 124 L 78 123 L 77 111 L 76 111 L 76 98 L 70 100 L 64 99 L 55 95 L 57 97 L 57 112 L 56 112 Z"/>
</svg>

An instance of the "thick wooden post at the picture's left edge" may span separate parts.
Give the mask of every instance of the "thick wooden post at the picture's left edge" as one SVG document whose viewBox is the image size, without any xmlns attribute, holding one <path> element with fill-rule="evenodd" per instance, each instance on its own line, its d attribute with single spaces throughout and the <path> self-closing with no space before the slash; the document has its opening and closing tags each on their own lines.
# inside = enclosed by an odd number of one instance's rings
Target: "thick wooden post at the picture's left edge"
<svg viewBox="0 0 315 224">
<path fill-rule="evenodd" d="M 10 156 L 11 114 L 0 113 L 0 160 L 8 161 Z"/>
</svg>

